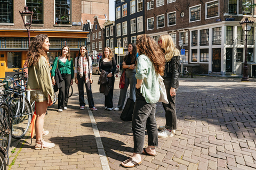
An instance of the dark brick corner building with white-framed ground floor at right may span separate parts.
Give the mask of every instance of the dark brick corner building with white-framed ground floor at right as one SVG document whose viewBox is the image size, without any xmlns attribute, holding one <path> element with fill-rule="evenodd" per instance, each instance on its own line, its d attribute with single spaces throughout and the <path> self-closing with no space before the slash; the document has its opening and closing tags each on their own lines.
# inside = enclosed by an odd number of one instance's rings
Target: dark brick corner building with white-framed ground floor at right
<svg viewBox="0 0 256 170">
<path fill-rule="evenodd" d="M 158 40 L 169 34 L 175 44 L 183 40 L 189 71 L 211 74 L 243 73 L 245 36 L 239 22 L 254 21 L 250 0 L 147 0 L 145 32 Z M 255 77 L 255 25 L 247 42 L 249 76 Z"/>
</svg>

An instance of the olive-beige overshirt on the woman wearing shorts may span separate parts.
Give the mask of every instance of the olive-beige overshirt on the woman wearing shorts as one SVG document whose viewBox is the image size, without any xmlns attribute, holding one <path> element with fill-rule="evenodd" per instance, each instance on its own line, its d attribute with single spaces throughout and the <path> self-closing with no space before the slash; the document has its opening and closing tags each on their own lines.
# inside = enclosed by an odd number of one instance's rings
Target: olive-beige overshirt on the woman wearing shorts
<svg viewBox="0 0 256 170">
<path fill-rule="evenodd" d="M 28 91 L 42 90 L 48 99 L 48 94 L 53 101 L 53 88 L 50 76 L 50 65 L 44 56 L 41 56 L 35 65 L 28 67 Z"/>
</svg>

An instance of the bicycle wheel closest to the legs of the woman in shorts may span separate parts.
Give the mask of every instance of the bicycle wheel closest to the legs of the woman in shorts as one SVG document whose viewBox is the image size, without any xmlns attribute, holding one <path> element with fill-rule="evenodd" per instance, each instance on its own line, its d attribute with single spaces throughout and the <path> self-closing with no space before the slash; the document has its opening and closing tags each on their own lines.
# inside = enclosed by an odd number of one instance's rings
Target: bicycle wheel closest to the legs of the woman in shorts
<svg viewBox="0 0 256 170">
<path fill-rule="evenodd" d="M 12 114 L 12 137 L 21 139 L 28 131 L 31 122 L 31 108 L 27 98 L 12 97 L 9 100 Z"/>
</svg>

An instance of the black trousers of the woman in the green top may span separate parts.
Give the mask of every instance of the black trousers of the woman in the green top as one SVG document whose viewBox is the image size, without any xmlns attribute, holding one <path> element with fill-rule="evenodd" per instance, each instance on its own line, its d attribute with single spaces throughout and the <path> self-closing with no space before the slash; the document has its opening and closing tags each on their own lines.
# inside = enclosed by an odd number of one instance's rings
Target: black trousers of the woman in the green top
<svg viewBox="0 0 256 170">
<path fill-rule="evenodd" d="M 71 74 L 61 74 L 64 81 L 61 82 L 62 88 L 59 88 L 58 109 L 63 109 L 68 105 L 68 93 L 71 82 Z"/>
</svg>

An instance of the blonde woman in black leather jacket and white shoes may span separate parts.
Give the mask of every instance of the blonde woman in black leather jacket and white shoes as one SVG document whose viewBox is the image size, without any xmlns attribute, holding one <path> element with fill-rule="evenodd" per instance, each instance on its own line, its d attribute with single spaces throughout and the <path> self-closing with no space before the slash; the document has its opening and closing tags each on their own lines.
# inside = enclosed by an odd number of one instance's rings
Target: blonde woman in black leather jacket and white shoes
<svg viewBox="0 0 256 170">
<path fill-rule="evenodd" d="M 159 138 L 173 137 L 177 129 L 177 116 L 175 108 L 175 96 L 179 88 L 180 75 L 180 52 L 173 43 L 170 35 L 162 35 L 158 40 L 159 45 L 163 49 L 165 63 L 164 86 L 166 89 L 167 99 L 169 104 L 163 103 L 165 111 L 165 126 L 159 126 L 161 132 L 158 133 Z"/>
</svg>

